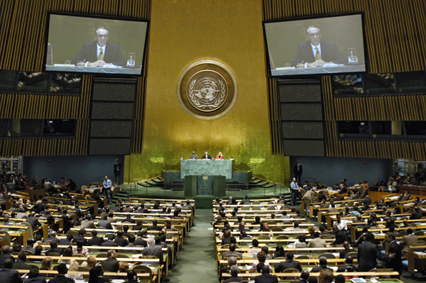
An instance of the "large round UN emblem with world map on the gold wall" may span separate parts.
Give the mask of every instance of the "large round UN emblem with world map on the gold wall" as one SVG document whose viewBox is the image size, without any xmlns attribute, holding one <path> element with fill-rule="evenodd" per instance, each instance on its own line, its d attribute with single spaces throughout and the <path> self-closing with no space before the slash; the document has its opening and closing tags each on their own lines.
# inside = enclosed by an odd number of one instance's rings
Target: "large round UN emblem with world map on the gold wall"
<svg viewBox="0 0 426 283">
<path fill-rule="evenodd" d="M 188 66 L 180 75 L 178 99 L 192 116 L 215 119 L 234 105 L 237 87 L 234 74 L 222 63 L 202 60 Z"/>
</svg>

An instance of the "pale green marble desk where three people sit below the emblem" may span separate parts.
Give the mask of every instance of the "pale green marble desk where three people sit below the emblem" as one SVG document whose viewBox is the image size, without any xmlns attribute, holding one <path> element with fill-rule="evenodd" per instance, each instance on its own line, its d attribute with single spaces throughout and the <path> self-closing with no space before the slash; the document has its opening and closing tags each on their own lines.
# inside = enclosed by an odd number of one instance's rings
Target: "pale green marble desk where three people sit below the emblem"
<svg viewBox="0 0 426 283">
<path fill-rule="evenodd" d="M 180 178 L 185 176 L 225 176 L 232 179 L 233 160 L 180 160 Z"/>
</svg>

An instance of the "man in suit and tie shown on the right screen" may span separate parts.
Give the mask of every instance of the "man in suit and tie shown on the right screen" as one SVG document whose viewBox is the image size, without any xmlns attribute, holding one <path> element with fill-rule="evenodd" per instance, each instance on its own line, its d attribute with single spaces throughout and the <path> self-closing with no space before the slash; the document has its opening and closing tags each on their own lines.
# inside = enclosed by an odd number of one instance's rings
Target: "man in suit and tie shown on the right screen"
<svg viewBox="0 0 426 283">
<path fill-rule="evenodd" d="M 297 50 L 290 65 L 303 63 L 305 68 L 324 67 L 324 64 L 344 64 L 347 58 L 335 43 L 321 40 L 321 30 L 317 26 L 306 28 L 307 41 L 297 45 Z"/>
</svg>

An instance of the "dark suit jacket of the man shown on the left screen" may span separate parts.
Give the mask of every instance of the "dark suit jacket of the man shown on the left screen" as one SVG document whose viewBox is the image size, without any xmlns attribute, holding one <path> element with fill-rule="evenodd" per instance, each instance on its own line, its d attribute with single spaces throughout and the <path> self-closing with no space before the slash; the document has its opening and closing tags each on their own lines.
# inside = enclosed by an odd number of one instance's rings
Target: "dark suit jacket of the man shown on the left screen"
<svg viewBox="0 0 426 283">
<path fill-rule="evenodd" d="M 105 48 L 104 53 L 104 61 L 107 63 L 112 63 L 116 66 L 124 66 L 126 65 L 126 60 L 123 55 L 121 55 L 121 50 L 119 45 L 114 43 L 107 42 L 107 47 Z M 97 61 L 97 42 L 92 41 L 90 43 L 84 43 L 80 52 L 75 55 L 74 59 L 72 59 L 71 64 L 77 64 L 78 61 L 89 61 L 96 62 Z"/>
</svg>

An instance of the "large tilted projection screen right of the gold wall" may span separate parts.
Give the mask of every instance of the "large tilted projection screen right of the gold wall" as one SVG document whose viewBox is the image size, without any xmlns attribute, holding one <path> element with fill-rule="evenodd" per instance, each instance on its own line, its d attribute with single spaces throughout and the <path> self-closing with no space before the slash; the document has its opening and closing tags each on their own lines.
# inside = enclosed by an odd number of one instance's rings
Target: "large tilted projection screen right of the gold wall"
<svg viewBox="0 0 426 283">
<path fill-rule="evenodd" d="M 272 77 L 366 72 L 363 13 L 266 21 L 263 28 Z M 315 57 L 318 43 L 322 57 Z"/>
</svg>

